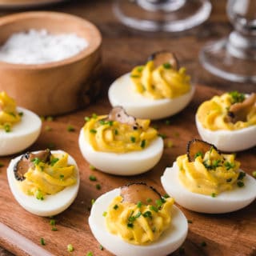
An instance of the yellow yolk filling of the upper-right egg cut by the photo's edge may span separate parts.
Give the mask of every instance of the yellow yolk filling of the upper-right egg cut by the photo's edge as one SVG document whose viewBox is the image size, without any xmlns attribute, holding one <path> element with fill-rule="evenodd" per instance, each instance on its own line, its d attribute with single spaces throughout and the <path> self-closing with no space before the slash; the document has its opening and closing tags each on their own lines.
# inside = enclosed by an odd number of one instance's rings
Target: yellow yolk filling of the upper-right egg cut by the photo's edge
<svg viewBox="0 0 256 256">
<path fill-rule="evenodd" d="M 209 130 L 239 130 L 256 125 L 256 106 L 252 106 L 246 114 L 245 121 L 230 122 L 228 111 L 234 104 L 232 94 L 226 93 L 214 96 L 203 102 L 197 111 L 198 121 Z"/>
</svg>

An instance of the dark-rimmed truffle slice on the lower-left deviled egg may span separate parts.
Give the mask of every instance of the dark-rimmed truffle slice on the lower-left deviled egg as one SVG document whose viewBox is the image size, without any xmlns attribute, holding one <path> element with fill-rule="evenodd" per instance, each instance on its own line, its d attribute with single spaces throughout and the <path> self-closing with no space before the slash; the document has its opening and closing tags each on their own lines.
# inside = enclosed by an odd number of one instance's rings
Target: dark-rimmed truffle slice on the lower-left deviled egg
<svg viewBox="0 0 256 256">
<path fill-rule="evenodd" d="M 34 166 L 34 159 L 38 158 L 42 162 L 50 162 L 50 150 L 42 150 L 38 153 L 26 153 L 22 155 L 22 158 L 14 166 L 14 176 L 18 181 L 25 180 L 24 174 Z"/>
</svg>

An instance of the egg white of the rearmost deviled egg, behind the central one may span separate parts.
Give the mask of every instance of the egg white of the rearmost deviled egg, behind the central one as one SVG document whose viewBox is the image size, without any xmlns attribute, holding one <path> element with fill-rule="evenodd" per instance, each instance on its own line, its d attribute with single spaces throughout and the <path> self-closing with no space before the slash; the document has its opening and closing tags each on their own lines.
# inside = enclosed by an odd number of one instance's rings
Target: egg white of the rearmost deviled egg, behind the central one
<svg viewBox="0 0 256 256">
<path fill-rule="evenodd" d="M 123 106 L 127 114 L 135 118 L 161 119 L 177 114 L 183 110 L 194 95 L 191 90 L 178 98 L 153 99 L 146 98 L 133 90 L 130 73 L 116 79 L 109 88 L 108 97 L 112 106 Z"/>
</svg>

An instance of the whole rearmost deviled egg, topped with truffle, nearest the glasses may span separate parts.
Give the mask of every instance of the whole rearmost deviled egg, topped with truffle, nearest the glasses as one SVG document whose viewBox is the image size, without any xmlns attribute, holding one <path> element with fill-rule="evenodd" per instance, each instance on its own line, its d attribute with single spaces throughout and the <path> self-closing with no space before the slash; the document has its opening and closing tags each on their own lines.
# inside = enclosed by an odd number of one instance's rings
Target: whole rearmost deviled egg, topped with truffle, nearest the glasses
<svg viewBox="0 0 256 256">
<path fill-rule="evenodd" d="M 144 66 L 136 66 L 115 80 L 108 96 L 112 106 L 123 106 L 136 118 L 161 119 L 184 109 L 194 86 L 184 67 L 178 68 L 174 54 L 153 54 Z"/>
</svg>

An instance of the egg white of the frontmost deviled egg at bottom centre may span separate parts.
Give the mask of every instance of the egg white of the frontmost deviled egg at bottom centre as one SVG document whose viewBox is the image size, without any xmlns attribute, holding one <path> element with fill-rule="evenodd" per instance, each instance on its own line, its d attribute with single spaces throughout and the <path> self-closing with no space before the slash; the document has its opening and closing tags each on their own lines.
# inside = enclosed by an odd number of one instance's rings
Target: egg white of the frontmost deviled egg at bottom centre
<svg viewBox="0 0 256 256">
<path fill-rule="evenodd" d="M 135 246 L 122 240 L 117 235 L 110 234 L 106 229 L 103 212 L 107 210 L 110 202 L 120 194 L 120 188 L 102 194 L 92 206 L 89 217 L 90 230 L 98 242 L 117 256 L 164 256 L 170 254 L 186 239 L 188 230 L 187 220 L 177 206 L 173 206 L 170 228 L 164 231 L 158 241 L 146 246 Z"/>
</svg>

